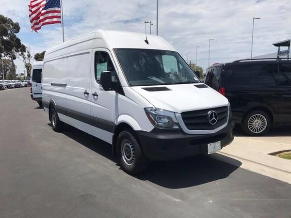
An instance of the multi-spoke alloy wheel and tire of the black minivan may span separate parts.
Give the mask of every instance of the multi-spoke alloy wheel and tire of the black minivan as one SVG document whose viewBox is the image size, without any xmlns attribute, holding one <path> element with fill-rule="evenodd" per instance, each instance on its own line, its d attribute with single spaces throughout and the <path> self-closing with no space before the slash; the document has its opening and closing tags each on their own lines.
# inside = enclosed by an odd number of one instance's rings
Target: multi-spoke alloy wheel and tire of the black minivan
<svg viewBox="0 0 291 218">
<path fill-rule="evenodd" d="M 242 120 L 242 130 L 250 136 L 262 136 L 270 130 L 270 127 L 270 116 L 263 110 L 253 110 Z"/>
</svg>

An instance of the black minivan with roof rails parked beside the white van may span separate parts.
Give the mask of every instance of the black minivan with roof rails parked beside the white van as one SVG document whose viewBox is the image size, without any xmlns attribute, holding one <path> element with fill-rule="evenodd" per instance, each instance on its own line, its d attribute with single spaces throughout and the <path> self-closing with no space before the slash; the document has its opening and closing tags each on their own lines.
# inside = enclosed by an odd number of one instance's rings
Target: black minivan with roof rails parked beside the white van
<svg viewBox="0 0 291 218">
<path fill-rule="evenodd" d="M 291 61 L 252 59 L 219 63 L 206 71 L 205 84 L 228 98 L 233 121 L 260 136 L 271 124 L 291 123 Z"/>
</svg>

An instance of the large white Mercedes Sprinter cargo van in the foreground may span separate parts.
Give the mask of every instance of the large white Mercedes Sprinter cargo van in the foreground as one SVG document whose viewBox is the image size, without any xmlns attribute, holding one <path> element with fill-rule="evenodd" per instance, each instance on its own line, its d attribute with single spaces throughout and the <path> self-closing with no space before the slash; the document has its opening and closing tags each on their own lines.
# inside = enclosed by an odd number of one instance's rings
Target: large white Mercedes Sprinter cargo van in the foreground
<svg viewBox="0 0 291 218">
<path fill-rule="evenodd" d="M 211 154 L 233 140 L 227 99 L 159 36 L 94 31 L 47 50 L 42 97 L 52 129 L 112 144 L 122 168 Z"/>
</svg>

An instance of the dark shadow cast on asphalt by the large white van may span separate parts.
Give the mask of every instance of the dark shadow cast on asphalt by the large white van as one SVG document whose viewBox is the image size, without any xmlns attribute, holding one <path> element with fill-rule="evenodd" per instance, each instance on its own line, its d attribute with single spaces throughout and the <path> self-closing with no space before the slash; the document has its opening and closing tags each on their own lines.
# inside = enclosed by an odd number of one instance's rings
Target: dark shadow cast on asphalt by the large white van
<svg viewBox="0 0 291 218">
<path fill-rule="evenodd" d="M 69 125 L 63 134 L 118 165 L 110 144 Z M 151 162 L 147 171 L 135 178 L 166 188 L 193 187 L 228 177 L 241 165 L 237 160 L 232 161 L 237 163 L 230 165 L 208 156 L 194 156 L 177 161 Z"/>
</svg>

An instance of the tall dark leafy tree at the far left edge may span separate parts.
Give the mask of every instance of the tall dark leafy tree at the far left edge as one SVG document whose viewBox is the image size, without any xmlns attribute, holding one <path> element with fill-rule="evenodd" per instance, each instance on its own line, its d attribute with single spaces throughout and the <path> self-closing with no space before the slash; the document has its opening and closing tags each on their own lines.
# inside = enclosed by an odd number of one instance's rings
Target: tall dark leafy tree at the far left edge
<svg viewBox="0 0 291 218">
<path fill-rule="evenodd" d="M 15 23 L 12 19 L 0 15 L 0 50 L 12 63 L 13 78 L 16 78 L 14 60 L 22 46 L 20 39 L 16 36 L 19 31 L 20 26 L 17 22 Z"/>
</svg>

